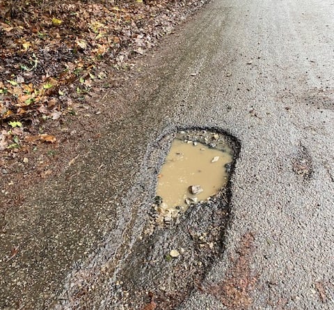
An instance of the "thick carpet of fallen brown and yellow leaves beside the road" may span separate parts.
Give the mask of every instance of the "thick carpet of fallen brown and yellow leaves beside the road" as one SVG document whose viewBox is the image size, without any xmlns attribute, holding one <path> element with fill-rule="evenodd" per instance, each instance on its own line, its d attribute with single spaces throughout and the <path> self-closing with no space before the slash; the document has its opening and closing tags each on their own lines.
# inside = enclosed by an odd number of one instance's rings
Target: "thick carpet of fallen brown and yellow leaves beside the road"
<svg viewBox="0 0 334 310">
<path fill-rule="evenodd" d="M 99 92 L 95 84 L 106 78 L 101 63 L 129 70 L 130 59 L 145 54 L 186 8 L 202 2 L 1 2 L 1 154 L 7 157 L 29 144 L 26 135 L 44 134 L 43 124 L 76 114 L 75 107 Z M 11 121 L 22 123 L 20 134 L 8 134 Z"/>
</svg>

